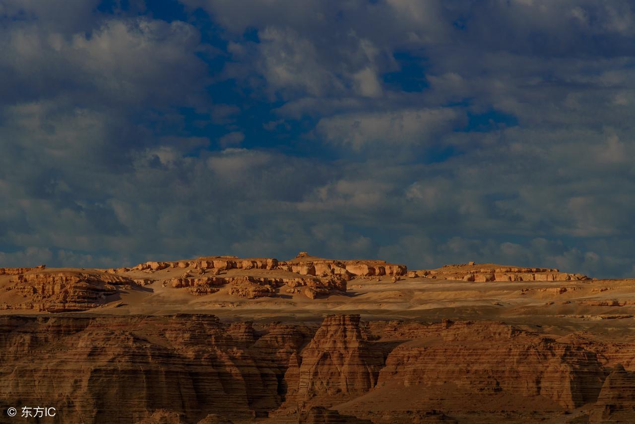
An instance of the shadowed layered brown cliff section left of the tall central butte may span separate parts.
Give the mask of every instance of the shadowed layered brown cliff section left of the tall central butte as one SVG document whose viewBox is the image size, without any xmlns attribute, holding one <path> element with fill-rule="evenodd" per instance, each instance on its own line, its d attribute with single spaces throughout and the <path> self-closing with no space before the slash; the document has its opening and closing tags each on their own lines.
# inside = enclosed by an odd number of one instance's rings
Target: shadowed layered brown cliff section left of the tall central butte
<svg viewBox="0 0 635 424">
<path fill-rule="evenodd" d="M 211 315 L 0 316 L 0 406 L 55 406 L 51 422 L 65 424 L 265 416 L 311 330 L 250 326 Z"/>
</svg>

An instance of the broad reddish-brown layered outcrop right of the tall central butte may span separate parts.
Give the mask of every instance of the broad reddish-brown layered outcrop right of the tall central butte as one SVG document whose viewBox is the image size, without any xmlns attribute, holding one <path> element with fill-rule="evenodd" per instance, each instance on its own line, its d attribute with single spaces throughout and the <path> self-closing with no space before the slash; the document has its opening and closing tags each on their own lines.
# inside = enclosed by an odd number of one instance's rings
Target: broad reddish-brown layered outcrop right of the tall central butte
<svg viewBox="0 0 635 424">
<path fill-rule="evenodd" d="M 597 399 L 606 376 L 594 352 L 505 324 L 448 324 L 436 337 L 443 342 L 427 345 L 424 338 L 392 350 L 378 385 L 445 382 L 475 393 L 547 397 L 574 409 Z"/>
</svg>

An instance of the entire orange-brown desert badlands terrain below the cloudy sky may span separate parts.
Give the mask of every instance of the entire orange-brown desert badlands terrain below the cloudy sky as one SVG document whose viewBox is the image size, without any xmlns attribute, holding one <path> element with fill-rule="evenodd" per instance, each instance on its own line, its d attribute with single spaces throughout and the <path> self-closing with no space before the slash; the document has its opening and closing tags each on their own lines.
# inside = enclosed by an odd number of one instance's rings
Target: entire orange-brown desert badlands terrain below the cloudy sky
<svg viewBox="0 0 635 424">
<path fill-rule="evenodd" d="M 0 268 L 0 420 L 635 422 L 635 279 L 592 277 L 304 252 Z"/>
</svg>

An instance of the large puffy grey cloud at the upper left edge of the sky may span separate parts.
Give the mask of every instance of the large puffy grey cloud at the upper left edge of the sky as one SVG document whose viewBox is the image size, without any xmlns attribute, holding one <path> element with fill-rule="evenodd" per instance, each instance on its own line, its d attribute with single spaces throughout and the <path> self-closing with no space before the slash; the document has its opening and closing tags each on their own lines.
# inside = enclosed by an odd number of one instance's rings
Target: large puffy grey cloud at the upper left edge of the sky
<svg viewBox="0 0 635 424">
<path fill-rule="evenodd" d="M 60 96 L 84 104 L 192 104 L 206 71 L 195 55 L 198 31 L 179 21 L 110 19 L 74 34 L 14 24 L 0 42 L 5 104 Z"/>
</svg>

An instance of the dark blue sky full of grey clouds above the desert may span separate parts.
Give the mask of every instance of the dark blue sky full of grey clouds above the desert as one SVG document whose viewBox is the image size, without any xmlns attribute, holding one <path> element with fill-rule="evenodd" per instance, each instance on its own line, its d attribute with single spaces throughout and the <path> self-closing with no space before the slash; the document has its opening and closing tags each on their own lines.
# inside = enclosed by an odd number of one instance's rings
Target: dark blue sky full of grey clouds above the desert
<svg viewBox="0 0 635 424">
<path fill-rule="evenodd" d="M 0 267 L 635 276 L 635 1 L 0 0 Z"/>
</svg>

